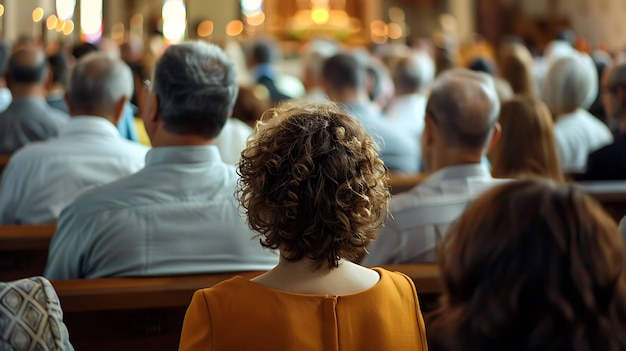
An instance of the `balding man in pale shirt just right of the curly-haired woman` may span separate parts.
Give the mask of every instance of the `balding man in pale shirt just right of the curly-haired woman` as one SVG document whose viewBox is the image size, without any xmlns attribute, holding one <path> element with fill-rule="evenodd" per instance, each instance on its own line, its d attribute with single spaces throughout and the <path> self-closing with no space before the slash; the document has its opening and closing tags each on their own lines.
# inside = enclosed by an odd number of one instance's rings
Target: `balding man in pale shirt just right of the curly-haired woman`
<svg viewBox="0 0 626 351">
<path fill-rule="evenodd" d="M 500 135 L 500 103 L 491 77 L 450 70 L 434 83 L 426 105 L 424 182 L 391 201 L 391 214 L 364 264 L 433 262 L 451 222 L 476 195 L 495 185 L 481 164 Z"/>
</svg>

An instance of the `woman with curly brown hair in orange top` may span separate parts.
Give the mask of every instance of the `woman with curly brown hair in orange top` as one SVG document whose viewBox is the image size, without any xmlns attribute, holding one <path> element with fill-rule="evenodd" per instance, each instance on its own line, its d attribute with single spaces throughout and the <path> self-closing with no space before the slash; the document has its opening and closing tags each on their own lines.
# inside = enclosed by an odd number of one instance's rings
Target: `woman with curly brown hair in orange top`
<svg viewBox="0 0 626 351">
<path fill-rule="evenodd" d="M 415 287 L 362 254 L 388 213 L 388 173 L 334 106 L 272 110 L 239 163 L 237 195 L 279 264 L 199 290 L 180 350 L 426 350 Z"/>
</svg>

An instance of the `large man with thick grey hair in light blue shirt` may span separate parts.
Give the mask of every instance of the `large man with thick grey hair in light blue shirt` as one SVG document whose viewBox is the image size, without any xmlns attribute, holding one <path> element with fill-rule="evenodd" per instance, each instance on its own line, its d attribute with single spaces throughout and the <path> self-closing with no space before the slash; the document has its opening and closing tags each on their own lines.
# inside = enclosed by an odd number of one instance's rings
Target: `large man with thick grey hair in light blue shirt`
<svg viewBox="0 0 626 351">
<path fill-rule="evenodd" d="M 237 95 L 234 64 L 217 46 L 170 46 L 143 119 L 153 145 L 136 174 L 83 193 L 50 244 L 52 279 L 267 270 L 238 212 L 235 168 L 213 145 Z"/>
</svg>

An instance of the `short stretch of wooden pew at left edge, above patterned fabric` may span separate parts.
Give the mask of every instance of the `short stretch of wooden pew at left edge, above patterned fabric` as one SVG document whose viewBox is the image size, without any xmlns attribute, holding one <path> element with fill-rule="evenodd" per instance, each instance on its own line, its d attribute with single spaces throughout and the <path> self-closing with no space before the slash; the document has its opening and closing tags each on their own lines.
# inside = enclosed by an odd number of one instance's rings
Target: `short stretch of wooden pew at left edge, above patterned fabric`
<svg viewBox="0 0 626 351">
<path fill-rule="evenodd" d="M 0 226 L 0 281 L 43 275 L 56 226 Z"/>
</svg>

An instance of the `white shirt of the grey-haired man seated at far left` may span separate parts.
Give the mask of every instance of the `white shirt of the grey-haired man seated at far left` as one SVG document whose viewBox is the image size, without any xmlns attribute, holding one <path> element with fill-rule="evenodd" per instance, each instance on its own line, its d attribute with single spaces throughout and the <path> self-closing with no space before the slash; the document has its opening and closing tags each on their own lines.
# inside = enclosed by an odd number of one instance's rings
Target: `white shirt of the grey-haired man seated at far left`
<svg viewBox="0 0 626 351">
<path fill-rule="evenodd" d="M 11 157 L 0 183 L 0 223 L 55 222 L 84 189 L 140 170 L 147 151 L 102 117 L 74 117 L 57 138 Z"/>
</svg>

